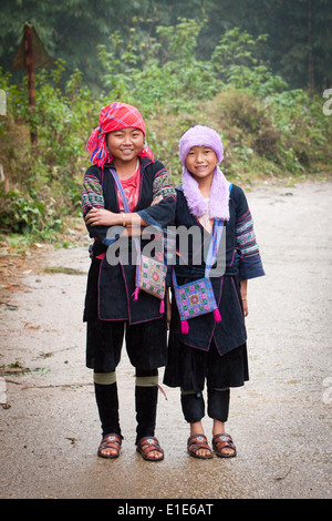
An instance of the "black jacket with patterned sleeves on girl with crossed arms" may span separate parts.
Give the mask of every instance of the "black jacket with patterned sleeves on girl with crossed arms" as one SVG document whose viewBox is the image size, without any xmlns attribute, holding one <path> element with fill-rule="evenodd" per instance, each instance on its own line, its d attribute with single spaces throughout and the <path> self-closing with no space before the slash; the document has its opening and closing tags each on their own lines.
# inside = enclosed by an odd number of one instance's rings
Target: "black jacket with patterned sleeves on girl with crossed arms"
<svg viewBox="0 0 332 521">
<path fill-rule="evenodd" d="M 156 161 L 141 160 L 139 195 L 135 213 L 151 226 L 164 228 L 174 219 L 176 192 L 164 165 Z M 82 192 L 82 210 L 85 216 L 92 207 L 102 207 L 117 213 L 118 197 L 110 165 L 87 168 Z M 163 201 L 151 206 L 162 195 Z M 113 227 L 116 228 L 116 227 Z M 118 228 L 118 227 L 117 227 Z M 129 324 L 159 318 L 160 300 L 139 292 L 138 300 L 133 299 L 135 290 L 135 254 L 131 238 L 127 238 L 127 258 L 118 255 L 118 262 L 107 262 L 107 247 L 116 247 L 116 234 L 108 226 L 87 226 L 94 238 L 91 248 L 92 263 L 87 277 L 84 320 L 128 320 Z M 111 238 L 110 238 L 111 231 Z M 142 248 L 146 242 L 142 241 Z M 116 252 L 115 252 L 116 255 Z M 100 257 L 100 258 L 97 258 Z"/>
</svg>

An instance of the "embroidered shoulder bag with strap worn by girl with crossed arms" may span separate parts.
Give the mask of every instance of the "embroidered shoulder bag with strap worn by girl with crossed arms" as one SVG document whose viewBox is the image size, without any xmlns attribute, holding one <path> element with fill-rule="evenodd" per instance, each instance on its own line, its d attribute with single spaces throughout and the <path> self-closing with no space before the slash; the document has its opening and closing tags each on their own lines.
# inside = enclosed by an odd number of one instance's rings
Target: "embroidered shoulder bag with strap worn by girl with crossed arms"
<svg viewBox="0 0 332 521">
<path fill-rule="evenodd" d="M 124 210 L 129 213 L 128 202 L 115 170 L 110 168 L 120 194 L 123 200 Z M 167 267 L 162 262 L 143 255 L 139 247 L 137 237 L 133 237 L 137 251 L 137 267 L 136 267 L 136 289 L 134 292 L 134 300 L 138 299 L 139 289 L 153 295 L 160 299 L 160 313 L 164 313 L 164 298 L 166 292 L 166 273 Z"/>
</svg>

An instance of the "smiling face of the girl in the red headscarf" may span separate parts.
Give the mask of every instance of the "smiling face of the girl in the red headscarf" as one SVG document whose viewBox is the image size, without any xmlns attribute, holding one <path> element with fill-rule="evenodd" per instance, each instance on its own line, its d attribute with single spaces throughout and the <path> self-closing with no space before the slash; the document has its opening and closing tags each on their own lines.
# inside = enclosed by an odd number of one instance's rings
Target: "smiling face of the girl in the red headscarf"
<svg viewBox="0 0 332 521">
<path fill-rule="evenodd" d="M 144 134 L 138 129 L 126 127 L 110 132 L 106 136 L 108 150 L 115 160 L 129 162 L 137 157 L 144 146 Z"/>
</svg>

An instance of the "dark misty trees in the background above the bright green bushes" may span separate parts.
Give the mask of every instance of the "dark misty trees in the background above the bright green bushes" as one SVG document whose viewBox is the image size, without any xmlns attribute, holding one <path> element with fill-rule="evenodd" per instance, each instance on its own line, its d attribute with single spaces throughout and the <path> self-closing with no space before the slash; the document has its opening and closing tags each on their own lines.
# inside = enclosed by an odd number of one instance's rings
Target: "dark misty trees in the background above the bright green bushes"
<svg viewBox="0 0 332 521">
<path fill-rule="evenodd" d="M 255 39 L 268 34 L 262 55 L 274 74 L 291 88 L 322 91 L 332 80 L 331 0 L 2 0 L 0 60 L 10 70 L 22 27 L 30 21 L 53 60 L 79 68 L 90 86 L 101 88 L 97 47 L 131 29 L 142 41 L 159 40 L 156 28 L 174 28 L 178 19 L 207 23 L 200 32 L 197 57 L 208 60 L 226 31 L 238 27 Z M 138 23 L 137 23 L 138 21 Z M 68 78 L 66 76 L 66 78 Z"/>
</svg>

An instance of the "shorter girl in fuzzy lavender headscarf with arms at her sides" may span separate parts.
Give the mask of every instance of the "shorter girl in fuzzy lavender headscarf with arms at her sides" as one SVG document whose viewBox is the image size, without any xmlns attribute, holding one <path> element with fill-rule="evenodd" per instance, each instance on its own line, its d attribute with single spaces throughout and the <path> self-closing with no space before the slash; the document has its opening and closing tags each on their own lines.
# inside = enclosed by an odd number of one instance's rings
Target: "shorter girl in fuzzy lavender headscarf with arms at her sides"
<svg viewBox="0 0 332 521">
<path fill-rule="evenodd" d="M 185 420 L 190 425 L 187 447 L 190 456 L 212 457 L 204 433 L 205 416 L 203 391 L 207 385 L 207 412 L 212 418 L 212 449 L 221 458 L 235 457 L 236 446 L 225 432 L 228 419 L 230 388 L 240 387 L 249 379 L 247 334 L 247 280 L 264 275 L 256 242 L 252 217 L 243 191 L 231 185 L 219 168 L 222 143 L 219 134 L 208 126 L 190 127 L 179 142 L 183 182 L 177 191 L 175 225 L 196 229 L 200 247 L 190 247 L 186 259 L 177 237 L 176 262 L 173 269 L 178 285 L 205 277 L 206 245 L 212 241 L 214 223 L 224 223 L 224 241 L 218 259 L 225 269 L 210 273 L 217 315 L 207 313 L 180 320 L 173 288 L 172 318 L 168 341 L 168 364 L 164 382 L 180 387 Z M 224 254 L 224 257 L 222 257 Z M 199 298 L 199 295 L 191 295 Z M 216 318 L 218 317 L 218 318 Z"/>
</svg>

